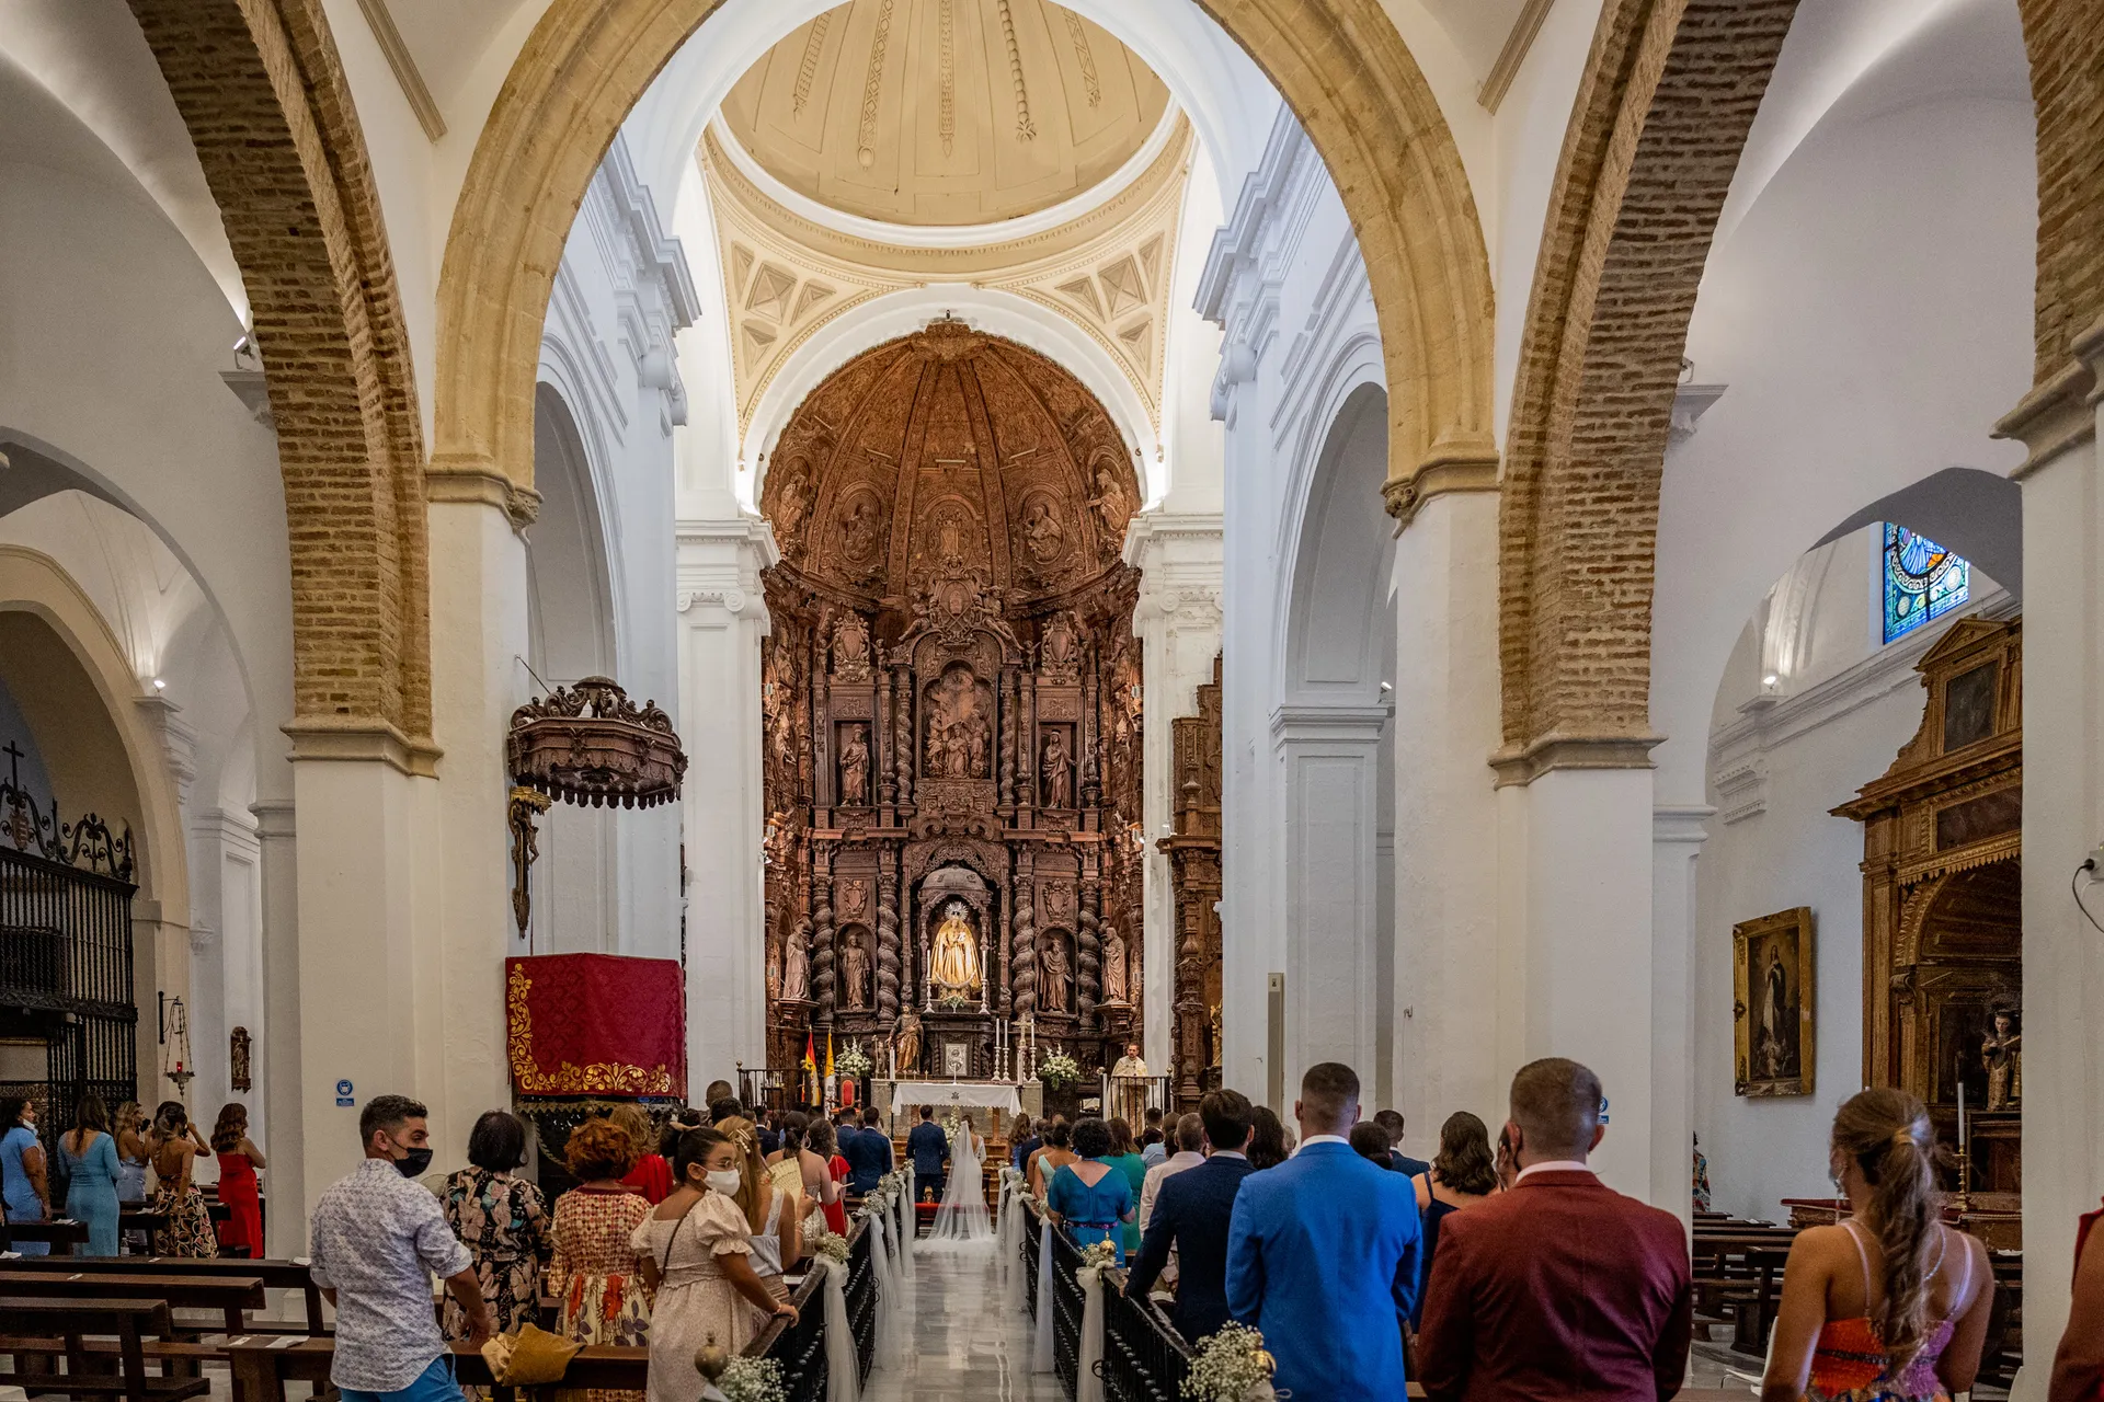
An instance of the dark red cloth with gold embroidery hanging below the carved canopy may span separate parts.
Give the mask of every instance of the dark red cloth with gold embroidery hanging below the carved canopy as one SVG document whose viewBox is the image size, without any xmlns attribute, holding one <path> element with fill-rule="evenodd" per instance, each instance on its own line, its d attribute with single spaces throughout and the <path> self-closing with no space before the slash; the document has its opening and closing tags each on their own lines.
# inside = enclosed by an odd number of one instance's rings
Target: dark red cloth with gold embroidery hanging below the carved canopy
<svg viewBox="0 0 2104 1402">
<path fill-rule="evenodd" d="M 686 1095 L 686 984 L 671 958 L 505 961 L 520 1095 Z"/>
</svg>

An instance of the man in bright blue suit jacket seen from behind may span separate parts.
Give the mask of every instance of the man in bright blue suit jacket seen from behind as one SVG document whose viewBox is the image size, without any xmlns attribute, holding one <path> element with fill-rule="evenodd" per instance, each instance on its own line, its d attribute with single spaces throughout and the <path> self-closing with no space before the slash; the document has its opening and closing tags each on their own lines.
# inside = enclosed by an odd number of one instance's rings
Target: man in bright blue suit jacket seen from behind
<svg viewBox="0 0 2104 1402">
<path fill-rule="evenodd" d="M 1265 1333 L 1279 1362 L 1273 1385 L 1296 1402 L 1393 1398 L 1418 1293 L 1416 1196 L 1408 1177 L 1351 1150 L 1359 1076 L 1349 1066 L 1311 1066 L 1294 1118 L 1300 1152 L 1248 1175 L 1235 1194 L 1229 1314 Z"/>
</svg>

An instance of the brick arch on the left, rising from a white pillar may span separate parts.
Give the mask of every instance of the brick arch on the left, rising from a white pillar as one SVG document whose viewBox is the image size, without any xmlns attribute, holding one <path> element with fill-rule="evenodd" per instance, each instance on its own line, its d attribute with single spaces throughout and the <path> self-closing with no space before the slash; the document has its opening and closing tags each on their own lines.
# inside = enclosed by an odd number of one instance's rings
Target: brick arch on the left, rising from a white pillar
<svg viewBox="0 0 2104 1402">
<path fill-rule="evenodd" d="M 242 269 L 292 547 L 295 744 L 429 769 L 423 433 L 322 0 L 130 0 Z"/>
</svg>

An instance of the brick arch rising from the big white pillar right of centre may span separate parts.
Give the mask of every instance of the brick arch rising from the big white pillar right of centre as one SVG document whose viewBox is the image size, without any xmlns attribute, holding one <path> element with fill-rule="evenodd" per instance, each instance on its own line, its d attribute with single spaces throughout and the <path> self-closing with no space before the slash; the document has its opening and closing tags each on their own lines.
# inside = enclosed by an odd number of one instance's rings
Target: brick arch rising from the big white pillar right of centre
<svg viewBox="0 0 2104 1402">
<path fill-rule="evenodd" d="M 1504 782 L 1643 765 L 1658 481 L 1717 214 L 1797 0 L 1610 0 L 1551 195 L 1500 500 Z"/>
</svg>

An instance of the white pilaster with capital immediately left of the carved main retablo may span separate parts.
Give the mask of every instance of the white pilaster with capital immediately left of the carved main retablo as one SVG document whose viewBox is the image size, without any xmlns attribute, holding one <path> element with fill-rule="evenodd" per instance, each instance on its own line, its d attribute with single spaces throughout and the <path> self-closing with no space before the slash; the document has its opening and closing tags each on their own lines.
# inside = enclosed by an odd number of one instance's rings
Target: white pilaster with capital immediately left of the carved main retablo
<svg viewBox="0 0 2104 1402">
<path fill-rule="evenodd" d="M 774 532 L 757 517 L 680 521 L 680 738 L 686 824 L 686 1076 L 699 1091 L 736 1061 L 766 1064 L 766 914 L 760 841 L 760 572 Z"/>
</svg>

